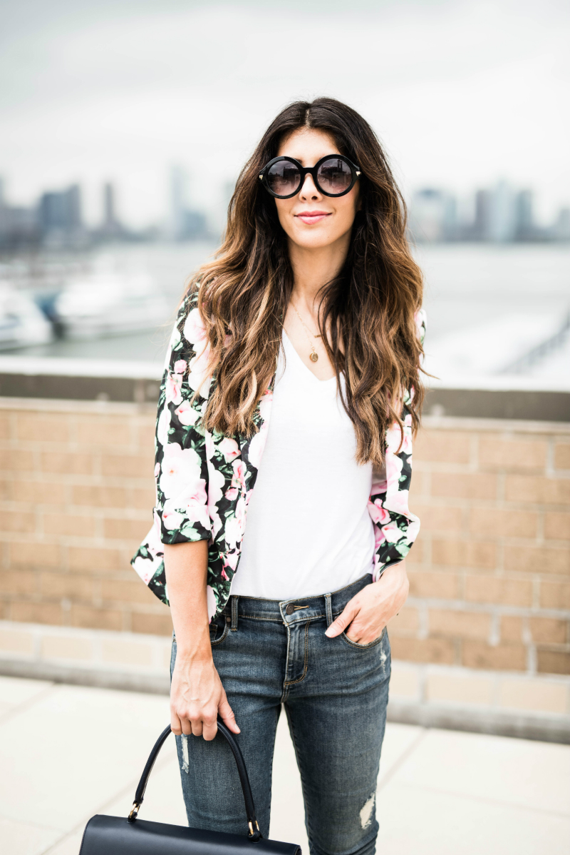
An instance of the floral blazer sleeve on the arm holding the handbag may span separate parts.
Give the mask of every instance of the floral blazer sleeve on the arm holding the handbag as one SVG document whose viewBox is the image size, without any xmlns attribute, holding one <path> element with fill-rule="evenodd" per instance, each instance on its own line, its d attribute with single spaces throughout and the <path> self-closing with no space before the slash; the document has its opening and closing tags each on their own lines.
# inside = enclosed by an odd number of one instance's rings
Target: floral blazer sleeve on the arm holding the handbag
<svg viewBox="0 0 570 855">
<path fill-rule="evenodd" d="M 163 544 L 209 540 L 212 534 L 201 426 L 211 379 L 206 377 L 206 333 L 196 302 L 192 294 L 178 311 L 160 385 L 154 518 Z"/>
</svg>

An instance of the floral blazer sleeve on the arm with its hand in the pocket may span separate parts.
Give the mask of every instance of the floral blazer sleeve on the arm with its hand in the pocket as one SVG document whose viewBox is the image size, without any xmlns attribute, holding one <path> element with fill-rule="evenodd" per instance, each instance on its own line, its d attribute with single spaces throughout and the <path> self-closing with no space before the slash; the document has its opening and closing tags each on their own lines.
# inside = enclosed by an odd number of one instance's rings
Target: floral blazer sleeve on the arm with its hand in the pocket
<svg viewBox="0 0 570 855">
<path fill-rule="evenodd" d="M 423 344 L 426 315 L 416 314 L 418 338 Z M 410 402 L 413 389 L 404 394 L 402 420 L 404 439 L 397 423 L 386 432 L 386 465 L 373 475 L 369 514 L 375 526 L 374 580 L 380 579 L 388 564 L 406 557 L 420 531 L 420 520 L 409 507 L 412 461 L 412 420 Z"/>
</svg>

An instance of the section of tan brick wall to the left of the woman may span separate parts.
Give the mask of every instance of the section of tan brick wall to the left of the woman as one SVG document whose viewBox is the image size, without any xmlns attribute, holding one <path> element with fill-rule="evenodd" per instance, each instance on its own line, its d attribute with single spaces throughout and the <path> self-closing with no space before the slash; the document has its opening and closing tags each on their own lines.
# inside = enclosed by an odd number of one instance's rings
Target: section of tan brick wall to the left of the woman
<svg viewBox="0 0 570 855">
<path fill-rule="evenodd" d="M 0 404 L 3 620 L 170 633 L 129 564 L 152 523 L 155 407 Z"/>
</svg>

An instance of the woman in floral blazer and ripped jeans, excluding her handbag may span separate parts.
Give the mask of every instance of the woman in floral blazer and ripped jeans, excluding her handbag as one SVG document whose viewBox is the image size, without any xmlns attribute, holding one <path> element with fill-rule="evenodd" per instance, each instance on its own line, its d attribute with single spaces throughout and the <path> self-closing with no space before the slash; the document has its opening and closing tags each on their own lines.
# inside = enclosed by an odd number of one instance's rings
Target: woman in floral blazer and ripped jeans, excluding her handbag
<svg viewBox="0 0 570 855">
<path fill-rule="evenodd" d="M 421 304 L 375 133 L 331 98 L 291 104 L 180 307 L 154 527 L 133 559 L 171 607 L 172 730 L 195 828 L 247 834 L 230 751 L 212 742 L 219 715 L 240 734 L 269 834 L 283 704 L 311 852 L 374 851 L 386 625 L 419 529 Z"/>
</svg>

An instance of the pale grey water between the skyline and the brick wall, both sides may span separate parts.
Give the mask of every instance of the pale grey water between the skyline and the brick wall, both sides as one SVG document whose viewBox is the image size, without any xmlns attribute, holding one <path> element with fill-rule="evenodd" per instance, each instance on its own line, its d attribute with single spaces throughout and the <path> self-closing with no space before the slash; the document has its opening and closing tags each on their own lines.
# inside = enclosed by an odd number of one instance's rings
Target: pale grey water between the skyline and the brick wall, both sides
<svg viewBox="0 0 570 855">
<path fill-rule="evenodd" d="M 168 309 L 148 330 L 103 339 L 58 339 L 11 354 L 162 362 L 184 282 L 214 249 L 201 243 L 117 245 L 4 263 L 3 277 L 36 295 L 57 291 L 70 275 L 146 272 L 164 294 Z M 569 246 L 421 245 L 415 253 L 426 282 L 428 367 L 436 367 L 433 373 L 442 380 L 457 372 L 458 365 L 462 374 L 500 374 L 535 345 L 528 330 L 534 329 L 534 338 L 544 337 L 543 330 L 561 327 L 570 312 Z M 524 373 L 538 380 L 544 374 L 545 384 L 553 376 L 570 378 L 569 346 L 562 336 L 554 351 Z"/>
</svg>

